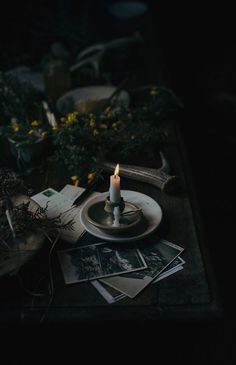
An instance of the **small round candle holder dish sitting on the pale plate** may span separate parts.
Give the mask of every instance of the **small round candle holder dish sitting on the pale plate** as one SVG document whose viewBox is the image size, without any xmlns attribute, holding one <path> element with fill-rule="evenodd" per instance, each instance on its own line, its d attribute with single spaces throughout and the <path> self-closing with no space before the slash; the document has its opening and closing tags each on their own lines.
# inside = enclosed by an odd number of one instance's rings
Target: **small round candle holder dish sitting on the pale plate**
<svg viewBox="0 0 236 365">
<path fill-rule="evenodd" d="M 130 232 L 141 224 L 143 219 L 142 209 L 136 204 L 124 201 L 123 198 L 119 202 L 113 203 L 109 196 L 104 200 L 92 201 L 85 207 L 86 220 L 96 228 L 105 231 L 108 234 L 123 234 Z M 114 225 L 114 210 L 119 207 L 119 223 Z"/>
</svg>

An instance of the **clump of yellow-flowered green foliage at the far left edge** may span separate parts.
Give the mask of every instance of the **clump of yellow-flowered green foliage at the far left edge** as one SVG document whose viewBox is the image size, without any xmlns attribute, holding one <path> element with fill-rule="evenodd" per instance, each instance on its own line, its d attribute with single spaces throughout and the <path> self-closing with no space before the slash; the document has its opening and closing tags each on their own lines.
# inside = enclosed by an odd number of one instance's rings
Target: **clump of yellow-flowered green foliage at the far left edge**
<svg viewBox="0 0 236 365">
<path fill-rule="evenodd" d="M 17 145 L 32 144 L 51 134 L 37 91 L 5 74 L 0 74 L 0 115 L 0 133 Z"/>
</svg>

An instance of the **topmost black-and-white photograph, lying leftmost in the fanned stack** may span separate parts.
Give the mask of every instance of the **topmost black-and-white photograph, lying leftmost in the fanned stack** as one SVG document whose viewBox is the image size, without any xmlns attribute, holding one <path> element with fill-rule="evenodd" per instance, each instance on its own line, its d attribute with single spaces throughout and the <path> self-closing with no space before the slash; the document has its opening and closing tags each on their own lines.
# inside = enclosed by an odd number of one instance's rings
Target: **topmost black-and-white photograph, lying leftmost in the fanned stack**
<svg viewBox="0 0 236 365">
<path fill-rule="evenodd" d="M 138 249 L 109 243 L 58 251 L 58 257 L 66 284 L 147 268 Z"/>
</svg>

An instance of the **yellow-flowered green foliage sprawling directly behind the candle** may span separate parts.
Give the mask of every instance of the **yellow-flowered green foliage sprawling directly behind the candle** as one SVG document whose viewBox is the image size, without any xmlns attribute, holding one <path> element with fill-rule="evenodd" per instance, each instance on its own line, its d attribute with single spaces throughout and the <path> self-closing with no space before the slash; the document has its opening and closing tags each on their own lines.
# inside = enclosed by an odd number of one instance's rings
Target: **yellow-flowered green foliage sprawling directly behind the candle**
<svg viewBox="0 0 236 365">
<path fill-rule="evenodd" d="M 165 121 L 181 103 L 171 90 L 152 87 L 136 108 L 109 106 L 99 114 L 70 113 L 55 130 L 55 158 L 83 179 L 96 172 L 103 160 L 120 162 L 148 153 L 168 140 Z"/>
</svg>

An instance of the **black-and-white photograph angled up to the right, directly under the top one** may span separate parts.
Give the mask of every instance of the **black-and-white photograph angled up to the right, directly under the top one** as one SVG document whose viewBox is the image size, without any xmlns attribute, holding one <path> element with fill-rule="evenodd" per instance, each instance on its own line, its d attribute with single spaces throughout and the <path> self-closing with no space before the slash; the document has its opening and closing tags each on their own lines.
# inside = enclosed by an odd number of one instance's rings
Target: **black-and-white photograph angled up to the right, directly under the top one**
<svg viewBox="0 0 236 365">
<path fill-rule="evenodd" d="M 112 278 L 101 279 L 101 281 L 120 292 L 134 298 L 148 284 L 160 275 L 184 249 L 166 240 L 160 240 L 140 249 L 147 269 L 139 273 L 127 273 Z"/>
</svg>

